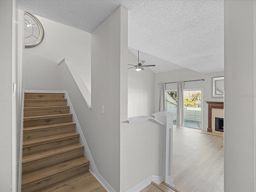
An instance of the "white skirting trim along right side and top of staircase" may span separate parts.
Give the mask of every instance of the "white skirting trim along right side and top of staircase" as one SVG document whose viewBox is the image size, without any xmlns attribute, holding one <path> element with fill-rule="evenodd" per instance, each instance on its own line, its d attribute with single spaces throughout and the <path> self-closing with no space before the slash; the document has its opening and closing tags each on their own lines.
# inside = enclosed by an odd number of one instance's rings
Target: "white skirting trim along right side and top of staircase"
<svg viewBox="0 0 256 192">
<path fill-rule="evenodd" d="M 76 123 L 76 132 L 80 134 L 79 141 L 81 144 L 84 145 L 84 156 L 90 160 L 90 168 L 89 171 L 93 174 L 93 176 L 102 184 L 102 186 L 108 191 L 108 192 L 115 192 L 115 190 L 108 184 L 108 182 L 100 175 L 98 172 L 98 169 L 96 167 L 96 164 L 92 158 L 92 154 L 90 152 L 90 149 L 88 147 L 88 144 L 85 140 L 84 134 L 82 132 L 82 128 L 78 122 L 78 118 L 76 116 L 75 110 L 72 106 L 71 100 L 68 96 L 68 92 L 66 90 L 63 91 L 42 91 L 42 90 L 25 90 L 26 93 L 64 93 L 65 98 L 67 99 L 67 105 L 70 106 L 70 112 L 73 114 L 72 120 Z"/>
</svg>

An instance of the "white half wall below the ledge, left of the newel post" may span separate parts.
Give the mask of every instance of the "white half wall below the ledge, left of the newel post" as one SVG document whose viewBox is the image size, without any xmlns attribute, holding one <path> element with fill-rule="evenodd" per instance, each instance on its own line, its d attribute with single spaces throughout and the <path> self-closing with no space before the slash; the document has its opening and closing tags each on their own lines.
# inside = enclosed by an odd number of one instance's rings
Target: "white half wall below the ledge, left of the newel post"
<svg viewBox="0 0 256 192">
<path fill-rule="evenodd" d="M 162 126 L 149 120 L 122 127 L 121 192 L 150 176 L 162 176 L 162 130 Z"/>
</svg>

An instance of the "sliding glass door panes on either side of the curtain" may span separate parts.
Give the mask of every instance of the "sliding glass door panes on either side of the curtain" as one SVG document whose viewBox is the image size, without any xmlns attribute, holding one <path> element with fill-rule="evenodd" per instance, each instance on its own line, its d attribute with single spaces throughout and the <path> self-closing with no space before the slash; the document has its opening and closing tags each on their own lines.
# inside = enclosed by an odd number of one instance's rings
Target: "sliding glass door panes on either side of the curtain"
<svg viewBox="0 0 256 192">
<path fill-rule="evenodd" d="M 201 129 L 202 90 L 184 90 L 184 126 Z M 166 91 L 166 111 L 177 113 L 177 91 Z M 173 118 L 176 124 L 176 115 Z"/>
</svg>

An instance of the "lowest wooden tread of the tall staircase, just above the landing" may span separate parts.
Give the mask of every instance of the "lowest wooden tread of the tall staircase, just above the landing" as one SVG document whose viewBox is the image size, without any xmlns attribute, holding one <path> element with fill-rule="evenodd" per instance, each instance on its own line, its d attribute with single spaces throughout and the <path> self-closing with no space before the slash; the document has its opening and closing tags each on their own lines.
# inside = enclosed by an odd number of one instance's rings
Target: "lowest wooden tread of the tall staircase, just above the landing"
<svg viewBox="0 0 256 192">
<path fill-rule="evenodd" d="M 47 179 L 56 174 L 66 172 L 68 170 L 76 169 L 81 166 L 88 165 L 90 161 L 84 157 L 78 157 L 64 162 L 60 162 L 42 169 L 34 170 L 28 173 L 22 174 L 21 186 L 26 186 L 31 183 L 38 182 L 39 180 Z"/>
</svg>

